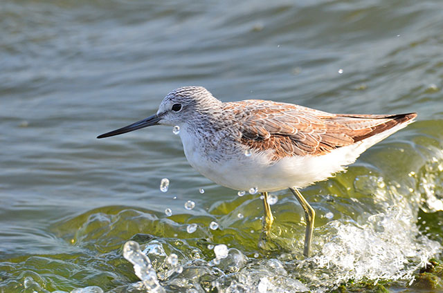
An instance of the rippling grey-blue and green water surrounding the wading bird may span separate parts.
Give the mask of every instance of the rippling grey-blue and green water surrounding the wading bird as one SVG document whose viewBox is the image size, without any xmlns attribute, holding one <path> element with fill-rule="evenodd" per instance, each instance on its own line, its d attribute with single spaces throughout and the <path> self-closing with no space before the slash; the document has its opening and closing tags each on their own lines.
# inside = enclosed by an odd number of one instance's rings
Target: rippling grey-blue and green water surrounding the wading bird
<svg viewBox="0 0 443 293">
<path fill-rule="evenodd" d="M 350 278 L 408 287 L 441 259 L 442 19 L 437 0 L 2 1 L 0 291 L 143 292 L 123 256 L 129 240 L 166 292 L 323 292 Z M 185 85 L 224 101 L 419 119 L 302 190 L 317 212 L 303 259 L 304 213 L 290 192 L 275 193 L 259 249 L 259 195 L 200 176 L 170 128 L 96 139 Z M 228 247 L 218 264 L 217 245 Z"/>
</svg>

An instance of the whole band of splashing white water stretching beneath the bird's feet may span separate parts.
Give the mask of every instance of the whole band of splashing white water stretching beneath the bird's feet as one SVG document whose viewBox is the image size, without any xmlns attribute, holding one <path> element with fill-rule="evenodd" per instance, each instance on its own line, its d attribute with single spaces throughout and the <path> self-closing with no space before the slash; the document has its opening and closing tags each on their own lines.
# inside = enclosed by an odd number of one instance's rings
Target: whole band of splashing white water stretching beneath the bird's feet
<svg viewBox="0 0 443 293">
<path fill-rule="evenodd" d="M 422 236 L 413 223 L 407 211 L 393 207 L 368 216 L 364 224 L 358 226 L 333 220 L 316 228 L 314 255 L 301 261 L 284 253 L 278 259 L 259 258 L 257 253 L 247 258 L 227 245 L 208 244 L 206 247 L 215 254 L 212 261 L 204 261 L 197 248 L 189 247 L 191 250 L 182 267 L 178 257 L 172 254 L 166 257 L 165 249 L 157 240 L 150 241 L 147 254 L 158 263 L 156 270 L 163 276 L 163 286 L 195 289 L 206 284 L 206 291 L 325 292 L 343 282 L 363 278 L 409 283 L 413 273 L 441 249 L 439 243 Z M 302 244 L 298 246 L 293 250 L 301 251 Z M 213 281 L 208 284 L 203 280 L 209 276 Z"/>
</svg>

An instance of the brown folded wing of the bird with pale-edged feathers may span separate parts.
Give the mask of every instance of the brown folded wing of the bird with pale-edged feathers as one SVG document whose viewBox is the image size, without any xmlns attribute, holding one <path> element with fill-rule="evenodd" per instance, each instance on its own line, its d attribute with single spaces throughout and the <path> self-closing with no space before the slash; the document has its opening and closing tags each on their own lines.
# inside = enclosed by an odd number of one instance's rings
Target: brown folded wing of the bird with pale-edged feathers
<svg viewBox="0 0 443 293">
<path fill-rule="evenodd" d="M 227 103 L 235 111 L 241 142 L 251 149 L 274 150 L 274 160 L 293 155 L 323 155 L 359 142 L 417 116 L 331 114 L 293 104 L 249 100 Z"/>
</svg>

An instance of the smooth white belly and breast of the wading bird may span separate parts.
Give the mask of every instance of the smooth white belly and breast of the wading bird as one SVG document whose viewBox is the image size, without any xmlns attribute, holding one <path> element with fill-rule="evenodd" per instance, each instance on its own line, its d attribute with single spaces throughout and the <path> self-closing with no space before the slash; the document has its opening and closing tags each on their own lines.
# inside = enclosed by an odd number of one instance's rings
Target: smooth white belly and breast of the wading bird
<svg viewBox="0 0 443 293">
<path fill-rule="evenodd" d="M 345 164 L 350 164 L 360 152 L 341 148 L 320 156 L 293 156 L 278 162 L 270 160 L 269 153 L 253 151 L 251 156 L 244 153 L 226 153 L 223 160 L 212 160 L 199 142 L 187 135 L 181 136 L 188 162 L 199 173 L 219 185 L 235 190 L 278 191 L 288 187 L 306 187 L 316 181 L 325 180 Z"/>
</svg>

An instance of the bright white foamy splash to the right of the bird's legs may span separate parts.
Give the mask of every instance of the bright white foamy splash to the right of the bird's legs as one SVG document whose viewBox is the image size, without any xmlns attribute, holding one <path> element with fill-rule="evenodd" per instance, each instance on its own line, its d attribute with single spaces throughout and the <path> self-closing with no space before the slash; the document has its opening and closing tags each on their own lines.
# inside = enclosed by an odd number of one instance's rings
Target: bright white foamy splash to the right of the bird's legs
<svg viewBox="0 0 443 293">
<path fill-rule="evenodd" d="M 404 211 L 392 208 L 370 216 L 363 227 L 329 222 L 323 229 L 334 237 L 318 243 L 320 251 L 298 263 L 298 276 L 318 288 L 363 278 L 410 280 L 441 249 L 439 243 L 422 236 L 417 226 L 411 226 L 410 220 Z M 308 267 L 312 274 L 303 274 Z"/>
</svg>

